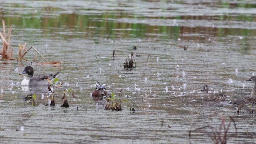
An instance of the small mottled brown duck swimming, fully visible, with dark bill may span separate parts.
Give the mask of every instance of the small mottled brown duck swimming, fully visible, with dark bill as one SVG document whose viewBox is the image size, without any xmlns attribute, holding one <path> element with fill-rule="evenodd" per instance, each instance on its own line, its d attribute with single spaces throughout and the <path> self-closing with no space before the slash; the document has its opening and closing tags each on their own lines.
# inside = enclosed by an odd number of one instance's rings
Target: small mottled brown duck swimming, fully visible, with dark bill
<svg viewBox="0 0 256 144">
<path fill-rule="evenodd" d="M 204 91 L 204 98 L 203 98 L 204 101 L 220 102 L 226 99 L 226 95 L 224 94 L 209 94 L 207 84 L 204 84 L 202 91 Z"/>
</svg>

